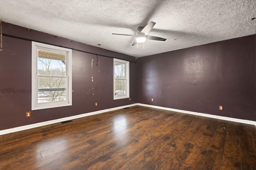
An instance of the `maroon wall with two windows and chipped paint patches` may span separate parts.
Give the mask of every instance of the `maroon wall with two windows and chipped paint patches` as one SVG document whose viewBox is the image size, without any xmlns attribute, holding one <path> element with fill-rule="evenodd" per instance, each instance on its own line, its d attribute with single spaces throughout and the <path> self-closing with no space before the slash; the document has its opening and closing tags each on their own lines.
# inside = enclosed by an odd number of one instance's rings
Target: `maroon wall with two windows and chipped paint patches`
<svg viewBox="0 0 256 170">
<path fill-rule="evenodd" d="M 3 33 L 125 59 L 130 62 L 130 98 L 113 100 L 113 59 L 72 51 L 72 106 L 31 111 L 31 42 L 3 36 L 0 51 L 0 130 L 137 103 L 136 58 L 50 34 L 3 23 Z M 94 59 L 93 69 L 91 67 Z M 93 75 L 93 82 L 92 82 Z M 94 103 L 98 102 L 95 107 Z M 26 112 L 31 117 L 26 118 Z"/>
</svg>

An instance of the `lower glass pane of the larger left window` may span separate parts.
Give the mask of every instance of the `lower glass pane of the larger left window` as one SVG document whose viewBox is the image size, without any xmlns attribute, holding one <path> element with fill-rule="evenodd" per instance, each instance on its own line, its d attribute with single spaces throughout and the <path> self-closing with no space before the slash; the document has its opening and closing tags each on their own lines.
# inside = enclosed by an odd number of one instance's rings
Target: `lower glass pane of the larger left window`
<svg viewBox="0 0 256 170">
<path fill-rule="evenodd" d="M 66 101 L 66 77 L 38 77 L 38 103 Z"/>
</svg>

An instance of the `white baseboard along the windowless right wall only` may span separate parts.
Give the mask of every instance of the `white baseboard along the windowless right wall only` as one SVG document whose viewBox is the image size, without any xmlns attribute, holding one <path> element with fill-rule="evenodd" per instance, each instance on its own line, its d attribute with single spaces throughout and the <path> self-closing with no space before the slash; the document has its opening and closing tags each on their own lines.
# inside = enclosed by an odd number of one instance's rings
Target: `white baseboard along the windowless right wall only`
<svg viewBox="0 0 256 170">
<path fill-rule="evenodd" d="M 156 108 L 156 109 L 163 109 L 163 110 L 167 110 L 167 111 L 174 111 L 174 112 L 180 112 L 180 113 L 187 113 L 187 114 L 190 114 L 190 115 L 198 115 L 198 116 L 210 117 L 210 118 L 214 118 L 214 119 L 221 119 L 221 120 L 225 120 L 225 121 L 232 121 L 232 122 L 238 122 L 238 123 L 245 123 L 245 124 L 255 125 L 255 126 L 256 126 L 256 121 L 249 121 L 249 120 L 244 120 L 244 119 L 236 119 L 236 118 L 232 118 L 232 117 L 224 117 L 224 116 L 210 115 L 210 114 L 206 114 L 206 113 L 198 113 L 198 112 L 192 112 L 192 111 L 184 111 L 184 110 L 172 109 L 172 108 L 168 108 L 168 107 L 160 107 L 160 106 L 154 106 L 154 105 L 146 105 L 146 104 L 142 104 L 142 103 L 138 103 L 138 105 L 139 105 L 139 106 L 152 107 L 152 108 Z"/>
</svg>

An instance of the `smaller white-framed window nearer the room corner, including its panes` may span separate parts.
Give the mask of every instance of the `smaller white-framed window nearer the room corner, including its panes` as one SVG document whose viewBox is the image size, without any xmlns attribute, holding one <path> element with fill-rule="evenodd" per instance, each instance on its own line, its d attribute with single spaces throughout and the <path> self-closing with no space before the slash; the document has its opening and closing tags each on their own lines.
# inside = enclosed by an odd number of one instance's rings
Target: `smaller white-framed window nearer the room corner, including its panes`
<svg viewBox="0 0 256 170">
<path fill-rule="evenodd" d="M 129 97 L 129 61 L 114 58 L 114 100 Z"/>
</svg>

